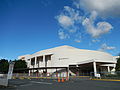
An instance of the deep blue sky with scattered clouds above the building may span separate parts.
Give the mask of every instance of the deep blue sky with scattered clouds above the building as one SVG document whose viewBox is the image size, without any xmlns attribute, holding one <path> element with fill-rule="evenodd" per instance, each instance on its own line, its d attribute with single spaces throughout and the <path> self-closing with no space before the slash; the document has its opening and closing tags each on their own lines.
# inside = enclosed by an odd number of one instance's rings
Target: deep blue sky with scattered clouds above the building
<svg viewBox="0 0 120 90">
<path fill-rule="evenodd" d="M 118 55 L 120 1 L 0 0 L 0 58 L 61 45 Z"/>
</svg>

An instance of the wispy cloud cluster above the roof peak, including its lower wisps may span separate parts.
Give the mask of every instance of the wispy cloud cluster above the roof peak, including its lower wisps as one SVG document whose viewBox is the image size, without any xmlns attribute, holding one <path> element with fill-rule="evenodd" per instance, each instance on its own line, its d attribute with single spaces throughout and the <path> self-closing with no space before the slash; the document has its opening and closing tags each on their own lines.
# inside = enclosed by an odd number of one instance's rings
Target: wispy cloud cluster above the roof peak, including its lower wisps
<svg viewBox="0 0 120 90">
<path fill-rule="evenodd" d="M 61 28 L 58 31 L 60 39 L 72 38 L 75 42 L 81 41 L 79 37 L 77 39 L 75 38 L 77 31 L 80 30 L 79 25 L 83 19 L 83 17 L 80 16 L 80 12 L 78 10 L 75 10 L 69 6 L 64 6 L 63 11 L 55 18 Z"/>
</svg>

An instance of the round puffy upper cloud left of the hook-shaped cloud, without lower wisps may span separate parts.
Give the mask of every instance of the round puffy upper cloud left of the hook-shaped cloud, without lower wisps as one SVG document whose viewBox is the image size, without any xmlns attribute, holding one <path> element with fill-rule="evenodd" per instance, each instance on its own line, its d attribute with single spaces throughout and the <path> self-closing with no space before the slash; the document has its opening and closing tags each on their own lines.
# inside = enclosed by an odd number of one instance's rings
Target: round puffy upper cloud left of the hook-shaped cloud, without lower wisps
<svg viewBox="0 0 120 90">
<path fill-rule="evenodd" d="M 77 31 L 79 27 L 77 27 L 76 24 L 80 23 L 81 18 L 79 11 L 70 8 L 69 6 L 64 6 L 64 10 L 60 15 L 56 16 L 61 28 L 68 30 L 69 32 Z"/>
</svg>

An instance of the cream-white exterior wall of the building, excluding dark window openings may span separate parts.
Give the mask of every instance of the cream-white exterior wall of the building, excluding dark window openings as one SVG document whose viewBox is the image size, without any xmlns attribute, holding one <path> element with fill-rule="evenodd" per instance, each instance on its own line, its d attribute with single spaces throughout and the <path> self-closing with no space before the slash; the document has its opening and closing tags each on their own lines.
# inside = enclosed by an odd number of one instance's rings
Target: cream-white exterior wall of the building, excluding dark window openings
<svg viewBox="0 0 120 90">
<path fill-rule="evenodd" d="M 45 67 L 45 55 L 51 55 L 51 60 L 48 61 L 47 67 L 68 67 L 69 65 L 76 65 L 84 61 L 95 60 L 96 62 L 110 62 L 116 63 L 113 56 L 100 51 L 83 50 L 71 46 L 60 46 L 52 49 L 42 50 L 32 55 L 20 56 L 28 63 L 29 68 L 31 65 L 31 58 L 43 56 L 43 62 L 39 62 L 40 67 Z M 38 65 L 35 66 L 36 68 Z"/>
</svg>

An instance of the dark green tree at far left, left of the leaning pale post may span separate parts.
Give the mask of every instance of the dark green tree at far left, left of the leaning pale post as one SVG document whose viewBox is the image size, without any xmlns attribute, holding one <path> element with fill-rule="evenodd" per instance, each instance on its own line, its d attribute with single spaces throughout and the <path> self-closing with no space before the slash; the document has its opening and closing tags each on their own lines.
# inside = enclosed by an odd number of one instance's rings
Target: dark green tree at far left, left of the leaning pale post
<svg viewBox="0 0 120 90">
<path fill-rule="evenodd" d="M 0 60 L 0 72 L 1 73 L 7 73 L 9 68 L 9 62 L 6 59 Z"/>
</svg>

